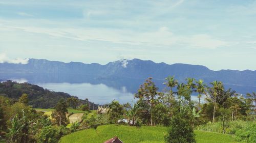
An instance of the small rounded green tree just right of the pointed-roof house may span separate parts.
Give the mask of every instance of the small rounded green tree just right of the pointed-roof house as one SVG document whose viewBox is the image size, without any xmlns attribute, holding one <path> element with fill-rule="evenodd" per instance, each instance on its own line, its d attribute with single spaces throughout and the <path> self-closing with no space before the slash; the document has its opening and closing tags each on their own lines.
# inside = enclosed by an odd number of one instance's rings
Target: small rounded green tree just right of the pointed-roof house
<svg viewBox="0 0 256 143">
<path fill-rule="evenodd" d="M 108 115 L 112 122 L 116 122 L 123 115 L 123 107 L 118 101 L 113 100 L 108 108 Z"/>
</svg>

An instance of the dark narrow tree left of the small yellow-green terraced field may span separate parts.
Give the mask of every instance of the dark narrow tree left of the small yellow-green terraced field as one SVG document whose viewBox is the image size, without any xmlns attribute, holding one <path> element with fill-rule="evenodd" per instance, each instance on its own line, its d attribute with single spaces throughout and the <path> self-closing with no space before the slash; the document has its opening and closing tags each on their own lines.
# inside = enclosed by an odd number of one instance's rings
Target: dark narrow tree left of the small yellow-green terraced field
<svg viewBox="0 0 256 143">
<path fill-rule="evenodd" d="M 66 113 L 68 112 L 67 104 L 64 100 L 60 100 L 55 106 L 55 110 L 52 113 L 52 118 L 58 126 L 67 125 L 68 119 L 66 118 Z"/>
</svg>

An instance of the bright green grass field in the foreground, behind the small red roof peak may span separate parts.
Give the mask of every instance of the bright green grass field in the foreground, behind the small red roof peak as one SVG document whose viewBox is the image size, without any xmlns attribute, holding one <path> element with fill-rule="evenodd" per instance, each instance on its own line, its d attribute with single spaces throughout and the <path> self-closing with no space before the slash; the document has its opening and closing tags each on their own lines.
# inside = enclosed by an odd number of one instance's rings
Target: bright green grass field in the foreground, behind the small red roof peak
<svg viewBox="0 0 256 143">
<path fill-rule="evenodd" d="M 195 133 L 197 143 L 235 143 L 230 135 L 204 131 L 195 131 Z M 59 142 L 100 143 L 114 136 L 118 136 L 125 143 L 164 143 L 164 134 L 166 134 L 165 127 L 143 126 L 136 128 L 122 125 L 104 125 L 99 126 L 96 130 L 82 130 L 63 136 Z"/>
</svg>

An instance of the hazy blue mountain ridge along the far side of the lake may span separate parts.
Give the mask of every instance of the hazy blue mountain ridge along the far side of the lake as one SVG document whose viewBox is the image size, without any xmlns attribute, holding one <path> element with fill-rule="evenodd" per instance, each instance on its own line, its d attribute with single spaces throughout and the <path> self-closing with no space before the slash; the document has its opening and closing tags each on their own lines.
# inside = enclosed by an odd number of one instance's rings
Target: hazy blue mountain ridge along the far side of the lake
<svg viewBox="0 0 256 143">
<path fill-rule="evenodd" d="M 153 77 L 157 80 L 164 80 L 167 76 L 174 75 L 181 82 L 184 82 L 187 77 L 203 79 L 206 83 L 219 80 L 225 84 L 226 88 L 232 88 L 243 94 L 256 91 L 256 70 L 213 71 L 200 65 L 168 65 L 139 59 L 119 60 L 106 65 L 29 59 L 28 64 L 0 64 L 0 74 L 0 78 L 4 78 L 6 74 L 65 74 L 93 78 L 145 79 Z"/>
</svg>

